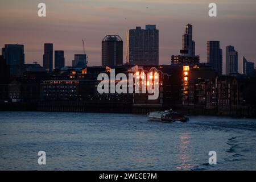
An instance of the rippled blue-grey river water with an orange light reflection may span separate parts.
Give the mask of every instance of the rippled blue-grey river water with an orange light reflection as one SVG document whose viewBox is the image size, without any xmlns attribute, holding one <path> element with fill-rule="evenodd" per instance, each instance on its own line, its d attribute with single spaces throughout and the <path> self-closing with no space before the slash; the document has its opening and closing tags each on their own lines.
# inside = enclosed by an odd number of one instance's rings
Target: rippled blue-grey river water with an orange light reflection
<svg viewBox="0 0 256 182">
<path fill-rule="evenodd" d="M 38 151 L 46 151 L 39 166 Z M 208 164 L 208 152 L 217 164 Z M 256 169 L 256 120 L 144 115 L 0 112 L 1 170 Z"/>
</svg>

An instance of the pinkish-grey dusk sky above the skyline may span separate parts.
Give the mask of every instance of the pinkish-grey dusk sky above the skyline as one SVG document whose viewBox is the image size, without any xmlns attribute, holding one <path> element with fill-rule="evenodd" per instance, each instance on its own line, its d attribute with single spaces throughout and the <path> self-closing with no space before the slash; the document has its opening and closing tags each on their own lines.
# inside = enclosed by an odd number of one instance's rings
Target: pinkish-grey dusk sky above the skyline
<svg viewBox="0 0 256 182">
<path fill-rule="evenodd" d="M 40 2 L 46 3 L 46 17 L 38 17 Z M 208 16 L 211 2 L 217 3 L 217 17 Z M 224 68 L 228 45 L 238 51 L 240 72 L 242 56 L 256 63 L 255 0 L 1 0 L 0 46 L 24 44 L 26 63 L 37 60 L 42 64 L 44 43 L 53 43 L 53 50 L 64 50 L 65 64 L 71 65 L 73 55 L 82 53 L 85 39 L 88 65 L 101 65 L 101 40 L 105 35 L 121 36 L 125 61 L 126 30 L 156 24 L 159 63 L 170 64 L 171 55 L 181 49 L 187 23 L 193 25 L 200 62 L 206 61 L 207 41 L 220 40 Z"/>
</svg>

